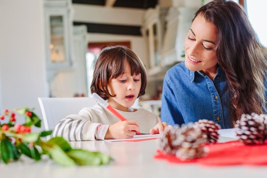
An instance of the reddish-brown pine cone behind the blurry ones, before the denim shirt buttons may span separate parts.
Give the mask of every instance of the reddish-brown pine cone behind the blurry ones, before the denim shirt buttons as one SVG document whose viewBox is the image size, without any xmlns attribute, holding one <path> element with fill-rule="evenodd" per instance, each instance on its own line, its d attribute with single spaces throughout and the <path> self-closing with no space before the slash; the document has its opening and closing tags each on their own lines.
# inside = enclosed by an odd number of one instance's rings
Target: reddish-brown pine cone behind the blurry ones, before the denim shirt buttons
<svg viewBox="0 0 267 178">
<path fill-rule="evenodd" d="M 203 133 L 207 134 L 207 143 L 214 144 L 219 139 L 218 130 L 221 129 L 221 126 L 213 121 L 202 119 L 195 122 L 193 127 L 199 127 Z"/>
</svg>

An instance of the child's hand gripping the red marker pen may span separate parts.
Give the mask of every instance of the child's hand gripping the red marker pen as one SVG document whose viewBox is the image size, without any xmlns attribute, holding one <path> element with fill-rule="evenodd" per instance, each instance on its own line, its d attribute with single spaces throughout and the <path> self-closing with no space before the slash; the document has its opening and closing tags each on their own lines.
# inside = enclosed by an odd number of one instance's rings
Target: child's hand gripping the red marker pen
<svg viewBox="0 0 267 178">
<path fill-rule="evenodd" d="M 137 121 L 119 121 L 109 126 L 105 139 L 131 139 L 136 134 L 133 130 L 140 130 Z"/>
</svg>

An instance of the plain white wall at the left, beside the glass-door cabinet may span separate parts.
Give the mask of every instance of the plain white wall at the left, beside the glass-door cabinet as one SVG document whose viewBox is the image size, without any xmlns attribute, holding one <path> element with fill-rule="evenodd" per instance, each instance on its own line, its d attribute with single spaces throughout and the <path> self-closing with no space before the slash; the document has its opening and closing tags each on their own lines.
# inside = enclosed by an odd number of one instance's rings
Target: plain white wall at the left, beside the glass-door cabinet
<svg viewBox="0 0 267 178">
<path fill-rule="evenodd" d="M 34 107 L 47 97 L 42 0 L 0 0 L 0 109 Z"/>
</svg>

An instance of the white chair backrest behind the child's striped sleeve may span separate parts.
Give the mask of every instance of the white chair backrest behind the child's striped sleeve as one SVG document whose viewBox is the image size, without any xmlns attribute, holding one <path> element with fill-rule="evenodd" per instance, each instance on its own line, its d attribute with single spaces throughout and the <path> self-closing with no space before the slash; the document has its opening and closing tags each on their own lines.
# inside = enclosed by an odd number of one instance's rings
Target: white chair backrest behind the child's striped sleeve
<svg viewBox="0 0 267 178">
<path fill-rule="evenodd" d="M 38 98 L 45 130 L 54 130 L 57 123 L 69 114 L 78 114 L 84 107 L 96 104 L 92 97 Z"/>
</svg>

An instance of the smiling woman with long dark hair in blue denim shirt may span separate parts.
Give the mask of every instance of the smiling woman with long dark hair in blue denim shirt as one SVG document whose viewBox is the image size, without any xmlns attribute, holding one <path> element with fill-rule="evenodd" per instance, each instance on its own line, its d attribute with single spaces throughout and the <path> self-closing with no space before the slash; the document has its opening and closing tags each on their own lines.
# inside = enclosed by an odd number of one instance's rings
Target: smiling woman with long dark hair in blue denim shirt
<svg viewBox="0 0 267 178">
<path fill-rule="evenodd" d="M 161 121 L 212 120 L 232 128 L 243 113 L 266 113 L 267 51 L 243 8 L 215 0 L 195 13 L 185 61 L 164 78 Z"/>
</svg>

